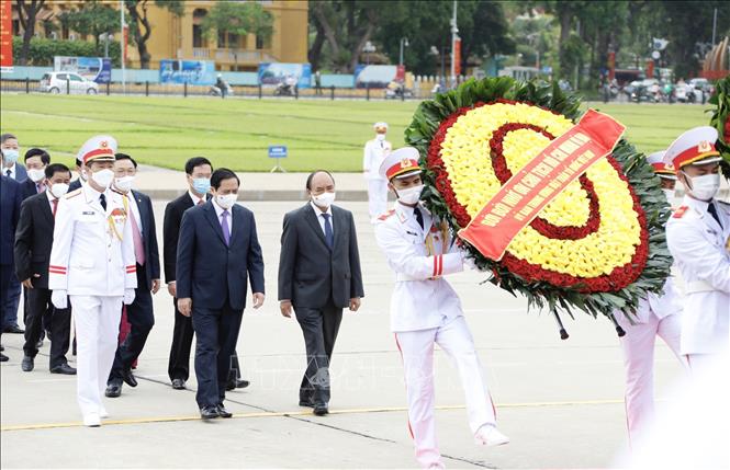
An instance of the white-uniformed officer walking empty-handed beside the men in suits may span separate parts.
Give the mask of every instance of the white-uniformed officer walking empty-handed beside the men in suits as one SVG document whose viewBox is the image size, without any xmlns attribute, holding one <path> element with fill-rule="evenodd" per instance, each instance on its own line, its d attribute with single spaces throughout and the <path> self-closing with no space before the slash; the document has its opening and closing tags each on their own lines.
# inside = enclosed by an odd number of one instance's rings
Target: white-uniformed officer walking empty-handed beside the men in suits
<svg viewBox="0 0 730 470">
<path fill-rule="evenodd" d="M 77 398 L 83 424 L 99 426 L 106 411 L 101 397 L 114 362 L 122 303 L 137 287 L 126 198 L 109 190 L 116 141 L 87 140 L 78 153 L 89 180 L 64 196 L 56 211 L 48 288 L 57 308 L 70 298 L 77 339 Z"/>
</svg>

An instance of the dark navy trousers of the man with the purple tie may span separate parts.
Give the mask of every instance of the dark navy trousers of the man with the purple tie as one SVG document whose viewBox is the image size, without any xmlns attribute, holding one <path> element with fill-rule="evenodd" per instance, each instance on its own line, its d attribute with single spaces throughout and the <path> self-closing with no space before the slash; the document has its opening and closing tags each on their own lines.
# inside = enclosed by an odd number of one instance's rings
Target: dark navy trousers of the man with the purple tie
<svg viewBox="0 0 730 470">
<path fill-rule="evenodd" d="M 222 309 L 195 307 L 193 299 L 192 324 L 195 330 L 195 401 L 200 408 L 215 406 L 225 400 L 225 387 L 236 348 L 243 310 L 234 310 L 228 302 Z"/>
</svg>

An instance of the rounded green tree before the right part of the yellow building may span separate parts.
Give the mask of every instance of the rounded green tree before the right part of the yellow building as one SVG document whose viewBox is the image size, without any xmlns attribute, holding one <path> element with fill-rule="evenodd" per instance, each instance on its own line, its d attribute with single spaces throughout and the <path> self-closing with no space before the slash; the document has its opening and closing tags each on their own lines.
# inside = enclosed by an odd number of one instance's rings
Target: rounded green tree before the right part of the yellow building
<svg viewBox="0 0 730 470">
<path fill-rule="evenodd" d="M 209 38 L 216 34 L 233 35 L 235 41 L 228 47 L 238 49 L 238 37 L 256 34 L 268 39 L 273 34 L 273 15 L 260 3 L 217 2 L 207 12 L 201 24 Z"/>
</svg>

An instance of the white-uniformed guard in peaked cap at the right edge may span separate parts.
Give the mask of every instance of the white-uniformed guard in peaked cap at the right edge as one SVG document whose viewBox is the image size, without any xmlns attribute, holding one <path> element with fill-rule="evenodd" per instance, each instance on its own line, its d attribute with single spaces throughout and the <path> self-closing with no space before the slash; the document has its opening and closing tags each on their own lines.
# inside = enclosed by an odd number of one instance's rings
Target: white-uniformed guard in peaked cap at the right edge
<svg viewBox="0 0 730 470">
<path fill-rule="evenodd" d="M 717 136 L 712 127 L 696 127 L 664 154 L 686 192 L 666 223 L 666 241 L 685 282 L 681 349 L 690 369 L 728 346 L 730 205 L 715 198 L 720 187 Z"/>
</svg>

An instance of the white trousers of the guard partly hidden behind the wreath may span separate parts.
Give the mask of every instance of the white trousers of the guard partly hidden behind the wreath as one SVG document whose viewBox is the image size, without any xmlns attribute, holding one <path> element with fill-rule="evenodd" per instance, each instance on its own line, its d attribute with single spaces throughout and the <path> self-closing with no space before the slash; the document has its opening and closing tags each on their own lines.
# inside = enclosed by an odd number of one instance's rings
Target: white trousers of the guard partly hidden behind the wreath
<svg viewBox="0 0 730 470">
<path fill-rule="evenodd" d="M 629 428 L 629 443 L 638 443 L 651 428 L 654 417 L 654 342 L 659 335 L 683 367 L 686 357 L 680 354 L 682 335 L 681 316 L 670 314 L 662 319 L 649 314 L 645 323 L 631 324 L 622 316 L 616 316 L 626 330 L 620 339 L 626 369 L 626 423 Z"/>
</svg>

